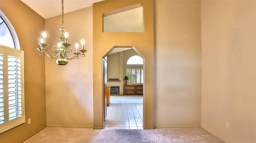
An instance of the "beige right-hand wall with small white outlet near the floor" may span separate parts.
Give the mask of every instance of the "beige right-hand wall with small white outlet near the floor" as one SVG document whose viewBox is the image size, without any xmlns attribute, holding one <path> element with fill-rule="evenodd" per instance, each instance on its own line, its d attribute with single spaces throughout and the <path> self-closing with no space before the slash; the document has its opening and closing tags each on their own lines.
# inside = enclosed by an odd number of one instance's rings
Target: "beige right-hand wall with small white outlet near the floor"
<svg viewBox="0 0 256 143">
<path fill-rule="evenodd" d="M 256 1 L 201 6 L 202 127 L 226 143 L 255 143 Z"/>
</svg>

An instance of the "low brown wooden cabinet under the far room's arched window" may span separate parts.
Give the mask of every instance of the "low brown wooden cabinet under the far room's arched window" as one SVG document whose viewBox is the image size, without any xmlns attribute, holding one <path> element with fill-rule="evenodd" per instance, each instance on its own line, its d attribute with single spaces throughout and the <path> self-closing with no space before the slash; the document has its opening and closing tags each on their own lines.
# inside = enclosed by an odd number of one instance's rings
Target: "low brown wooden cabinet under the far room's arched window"
<svg viewBox="0 0 256 143">
<path fill-rule="evenodd" d="M 143 84 L 124 85 L 124 95 L 143 95 Z"/>
</svg>

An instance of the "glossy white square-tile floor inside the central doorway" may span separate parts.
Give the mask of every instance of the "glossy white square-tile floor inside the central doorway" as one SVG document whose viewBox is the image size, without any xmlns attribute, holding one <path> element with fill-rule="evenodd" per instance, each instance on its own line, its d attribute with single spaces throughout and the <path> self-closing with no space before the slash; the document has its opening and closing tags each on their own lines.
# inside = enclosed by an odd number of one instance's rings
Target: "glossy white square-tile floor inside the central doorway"
<svg viewBox="0 0 256 143">
<path fill-rule="evenodd" d="M 143 129 L 143 104 L 110 104 L 104 129 Z"/>
</svg>

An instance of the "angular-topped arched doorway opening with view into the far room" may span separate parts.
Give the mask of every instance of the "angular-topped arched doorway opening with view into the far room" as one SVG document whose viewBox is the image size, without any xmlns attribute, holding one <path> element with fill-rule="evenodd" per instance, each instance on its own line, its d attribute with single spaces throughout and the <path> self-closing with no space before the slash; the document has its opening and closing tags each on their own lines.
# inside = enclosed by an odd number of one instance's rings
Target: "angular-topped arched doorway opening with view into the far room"
<svg viewBox="0 0 256 143">
<path fill-rule="evenodd" d="M 136 64 L 127 64 L 128 59 L 134 56 L 140 57 L 140 62 L 138 63 L 134 61 Z M 115 59 L 115 57 L 117 57 L 117 59 Z M 124 80 L 124 78 L 129 74 L 127 73 L 127 69 L 128 71 L 129 69 L 141 69 L 143 71 L 144 60 L 142 59 L 142 57 L 143 55 L 141 55 L 133 46 L 114 46 L 103 57 L 103 59 L 106 60 L 107 63 L 107 73 L 105 73 L 103 70 L 103 77 L 107 78 L 103 80 L 103 82 L 107 82 L 103 83 L 104 93 L 106 91 L 111 92 L 110 88 L 112 86 L 118 86 L 118 88 L 120 89 L 119 94 L 108 93 L 110 95 L 109 104 L 107 103 L 108 106 L 106 106 L 106 103 L 104 102 L 104 129 L 143 129 L 144 78 L 140 78 L 140 76 L 142 75 L 143 77 L 144 73 L 138 72 L 138 76 L 136 77 L 138 78 L 138 80 L 142 80 L 138 84 L 128 82 L 128 85 L 125 85 Z M 118 68 L 114 69 L 116 67 Z M 107 74 L 107 76 L 104 74 Z M 108 102 L 108 98 L 105 98 L 107 97 L 105 97 L 104 94 L 104 101 L 107 100 Z"/>
</svg>

